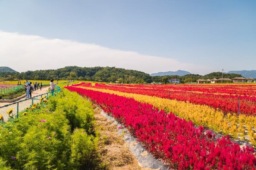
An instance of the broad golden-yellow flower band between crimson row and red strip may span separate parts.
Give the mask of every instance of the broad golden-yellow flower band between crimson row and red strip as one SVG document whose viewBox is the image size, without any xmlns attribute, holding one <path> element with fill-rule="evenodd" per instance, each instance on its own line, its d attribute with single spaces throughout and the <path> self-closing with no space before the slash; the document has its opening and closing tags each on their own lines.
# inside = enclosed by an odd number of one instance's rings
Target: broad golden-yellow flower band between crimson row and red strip
<svg viewBox="0 0 256 170">
<path fill-rule="evenodd" d="M 123 93 L 108 89 L 96 89 L 91 87 L 80 87 L 94 91 L 116 94 L 119 96 L 134 98 L 137 101 L 149 103 L 163 109 L 166 112 L 173 112 L 176 116 L 187 121 L 193 121 L 195 125 L 202 125 L 217 133 L 231 135 L 234 138 L 245 139 L 245 131 L 249 141 L 256 146 L 256 135 L 253 127 L 256 127 L 256 117 L 240 114 L 236 116 L 228 113 L 227 116 L 220 110 L 205 105 L 195 105 L 190 102 L 169 100 L 159 97 L 152 97 L 139 94 Z"/>
</svg>

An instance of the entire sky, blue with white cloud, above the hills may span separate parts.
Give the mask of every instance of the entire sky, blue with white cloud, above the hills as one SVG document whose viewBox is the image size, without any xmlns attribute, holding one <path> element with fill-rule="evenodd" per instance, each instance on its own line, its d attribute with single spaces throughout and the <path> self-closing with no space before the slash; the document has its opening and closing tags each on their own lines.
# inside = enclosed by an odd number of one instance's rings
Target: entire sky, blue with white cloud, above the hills
<svg viewBox="0 0 256 170">
<path fill-rule="evenodd" d="M 0 0 L 0 66 L 256 70 L 255 0 Z"/>
</svg>

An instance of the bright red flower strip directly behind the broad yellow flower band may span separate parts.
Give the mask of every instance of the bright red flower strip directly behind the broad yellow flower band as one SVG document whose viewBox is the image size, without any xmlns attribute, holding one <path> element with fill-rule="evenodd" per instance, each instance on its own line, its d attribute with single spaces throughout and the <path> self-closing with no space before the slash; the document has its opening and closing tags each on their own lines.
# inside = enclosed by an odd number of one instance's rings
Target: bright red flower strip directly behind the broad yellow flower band
<svg viewBox="0 0 256 170">
<path fill-rule="evenodd" d="M 215 109 L 220 109 L 224 113 L 242 113 L 246 115 L 256 114 L 256 97 L 240 96 L 239 108 L 238 97 L 234 95 L 195 93 L 192 91 L 169 91 L 167 89 L 149 89 L 149 88 L 126 88 L 125 86 L 98 85 L 94 88 L 111 89 L 124 93 L 134 93 L 147 96 L 156 96 L 160 98 L 173 99 L 178 101 L 188 101 L 197 105 L 207 105 Z"/>
</svg>

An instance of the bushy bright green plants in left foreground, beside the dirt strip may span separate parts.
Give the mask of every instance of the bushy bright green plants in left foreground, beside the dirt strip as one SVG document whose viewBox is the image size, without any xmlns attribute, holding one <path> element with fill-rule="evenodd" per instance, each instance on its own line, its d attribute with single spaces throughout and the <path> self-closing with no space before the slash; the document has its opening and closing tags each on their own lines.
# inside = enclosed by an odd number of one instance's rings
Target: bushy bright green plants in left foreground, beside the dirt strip
<svg viewBox="0 0 256 170">
<path fill-rule="evenodd" d="M 46 107 L 25 110 L 26 116 L 19 113 L 14 122 L 1 124 L 0 169 L 99 168 L 90 102 L 68 90 L 48 102 Z"/>
</svg>

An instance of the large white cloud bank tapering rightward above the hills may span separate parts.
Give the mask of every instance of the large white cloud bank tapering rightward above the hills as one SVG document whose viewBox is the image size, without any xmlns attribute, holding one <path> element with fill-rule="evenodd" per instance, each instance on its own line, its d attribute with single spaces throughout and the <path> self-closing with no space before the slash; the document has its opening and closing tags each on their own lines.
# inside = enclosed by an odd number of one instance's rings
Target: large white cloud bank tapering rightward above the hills
<svg viewBox="0 0 256 170">
<path fill-rule="evenodd" d="M 58 69 L 65 66 L 115 66 L 149 74 L 177 70 L 194 74 L 213 71 L 208 66 L 181 63 L 172 58 L 3 31 L 0 31 L 0 59 L 0 66 L 9 66 L 18 72 Z"/>
</svg>

